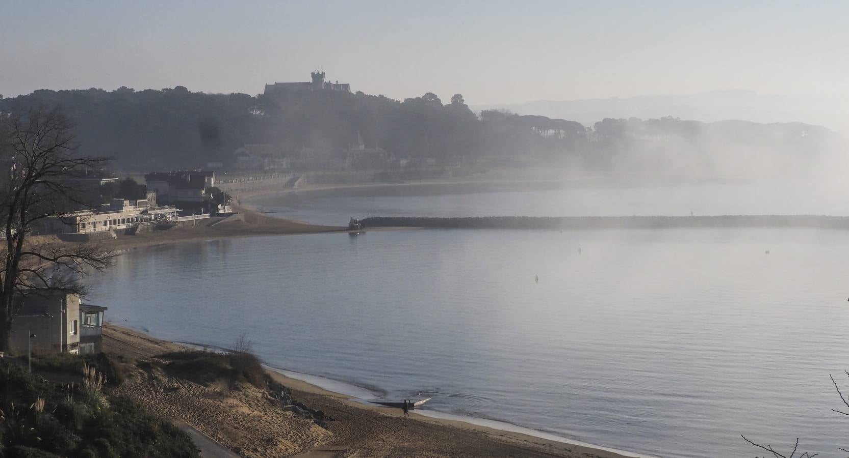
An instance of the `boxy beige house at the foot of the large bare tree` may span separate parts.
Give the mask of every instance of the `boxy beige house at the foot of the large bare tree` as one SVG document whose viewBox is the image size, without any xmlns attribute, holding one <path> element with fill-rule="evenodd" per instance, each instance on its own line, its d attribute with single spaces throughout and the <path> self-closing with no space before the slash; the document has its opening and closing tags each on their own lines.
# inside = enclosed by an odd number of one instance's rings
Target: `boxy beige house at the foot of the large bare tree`
<svg viewBox="0 0 849 458">
<path fill-rule="evenodd" d="M 80 297 L 62 290 L 37 290 L 14 298 L 11 350 L 80 353 Z M 32 337 L 31 337 L 32 336 Z"/>
</svg>

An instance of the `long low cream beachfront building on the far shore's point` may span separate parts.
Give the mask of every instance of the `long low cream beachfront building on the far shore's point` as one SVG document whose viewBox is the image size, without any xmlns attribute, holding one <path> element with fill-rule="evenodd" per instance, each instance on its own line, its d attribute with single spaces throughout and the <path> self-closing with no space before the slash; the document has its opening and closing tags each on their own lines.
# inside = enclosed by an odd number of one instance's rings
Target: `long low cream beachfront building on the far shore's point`
<svg viewBox="0 0 849 458">
<path fill-rule="evenodd" d="M 147 199 L 130 201 L 113 199 L 110 205 L 73 212 L 64 218 L 47 218 L 39 230 L 42 234 L 92 234 L 119 229 L 177 222 L 177 207 L 155 207 Z"/>
</svg>

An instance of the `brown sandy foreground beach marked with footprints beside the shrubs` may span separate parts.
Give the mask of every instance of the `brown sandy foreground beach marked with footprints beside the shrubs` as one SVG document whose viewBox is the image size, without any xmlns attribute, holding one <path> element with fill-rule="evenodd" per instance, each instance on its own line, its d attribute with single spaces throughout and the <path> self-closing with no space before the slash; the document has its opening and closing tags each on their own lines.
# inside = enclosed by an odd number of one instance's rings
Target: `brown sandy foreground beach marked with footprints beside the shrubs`
<svg viewBox="0 0 849 458">
<path fill-rule="evenodd" d="M 333 418 L 327 428 L 321 428 L 284 411 L 269 393 L 254 386 L 203 386 L 150 368 L 155 356 L 185 349 L 133 329 L 104 327 L 104 351 L 136 361 L 136 368 L 115 389 L 117 394 L 186 424 L 241 456 L 622 456 L 415 412 L 405 419 L 400 410 L 366 406 L 269 371 L 275 381 L 292 390 L 296 400 Z"/>
</svg>

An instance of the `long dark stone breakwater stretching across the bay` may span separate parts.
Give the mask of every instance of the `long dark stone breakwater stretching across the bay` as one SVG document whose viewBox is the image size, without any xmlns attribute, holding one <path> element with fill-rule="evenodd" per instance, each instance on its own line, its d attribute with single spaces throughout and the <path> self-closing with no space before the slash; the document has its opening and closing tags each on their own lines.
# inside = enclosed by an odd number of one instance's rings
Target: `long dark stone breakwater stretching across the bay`
<svg viewBox="0 0 849 458">
<path fill-rule="evenodd" d="M 818 228 L 849 229 L 849 217 L 819 215 L 619 216 L 619 217 L 371 217 L 366 228 L 441 229 L 673 229 Z"/>
</svg>

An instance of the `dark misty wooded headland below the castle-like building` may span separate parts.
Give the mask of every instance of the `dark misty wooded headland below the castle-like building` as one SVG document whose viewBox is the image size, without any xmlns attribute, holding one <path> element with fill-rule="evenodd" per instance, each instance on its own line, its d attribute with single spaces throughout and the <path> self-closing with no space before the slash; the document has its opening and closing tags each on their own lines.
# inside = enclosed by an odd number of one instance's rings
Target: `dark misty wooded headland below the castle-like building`
<svg viewBox="0 0 849 458">
<path fill-rule="evenodd" d="M 60 106 L 75 119 L 87 152 L 116 157 L 130 171 L 227 165 L 249 143 L 278 146 L 292 163 L 345 163 L 350 148 L 443 164 L 495 160 L 580 165 L 599 171 L 721 174 L 723 155 L 745 150 L 758 161 L 805 157 L 827 149 L 829 131 L 806 124 L 700 123 L 674 118 L 604 119 L 585 127 L 564 119 L 501 111 L 473 113 L 462 94 L 443 104 L 427 92 L 399 102 L 358 91 L 290 91 L 274 96 L 204 94 L 183 86 L 134 91 L 35 91 L 0 99 L 0 113 Z M 756 153 L 750 153 L 755 150 Z M 785 154 L 787 153 L 787 154 Z M 759 157 L 758 154 L 761 156 Z M 745 163 L 756 168 L 757 163 Z"/>
</svg>

